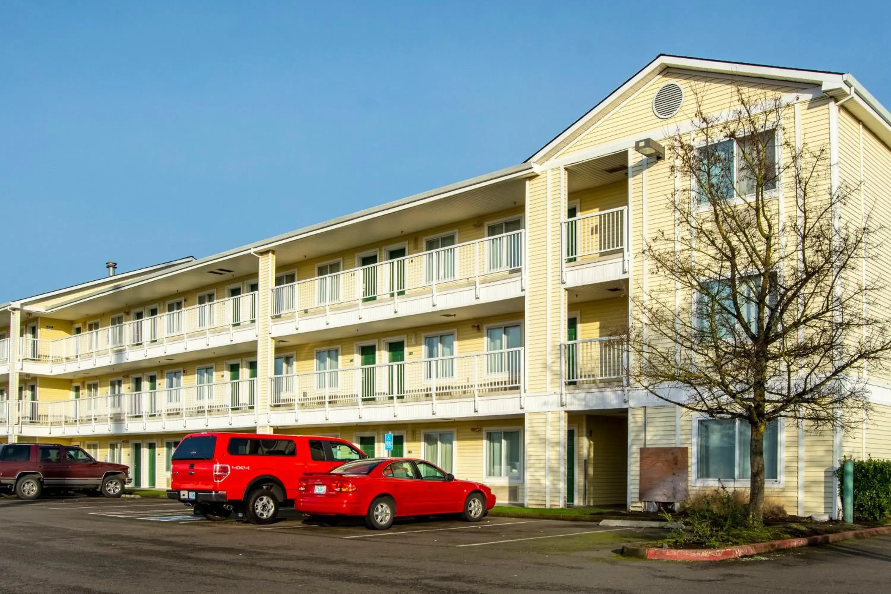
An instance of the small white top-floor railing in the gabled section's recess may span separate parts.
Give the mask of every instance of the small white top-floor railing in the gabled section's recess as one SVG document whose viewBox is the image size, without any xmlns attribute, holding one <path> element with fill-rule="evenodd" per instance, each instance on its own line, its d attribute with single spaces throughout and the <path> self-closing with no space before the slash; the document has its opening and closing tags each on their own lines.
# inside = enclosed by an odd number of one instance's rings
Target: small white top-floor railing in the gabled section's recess
<svg viewBox="0 0 891 594">
<path fill-rule="evenodd" d="M 628 207 L 618 207 L 563 221 L 563 263 L 624 250 L 627 212 Z"/>
</svg>

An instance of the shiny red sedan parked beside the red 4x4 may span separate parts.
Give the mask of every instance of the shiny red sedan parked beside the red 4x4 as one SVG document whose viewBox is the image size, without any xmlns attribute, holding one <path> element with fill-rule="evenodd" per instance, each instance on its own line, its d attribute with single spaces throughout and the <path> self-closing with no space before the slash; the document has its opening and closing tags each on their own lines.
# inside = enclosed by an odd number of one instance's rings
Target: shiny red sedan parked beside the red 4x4
<svg viewBox="0 0 891 594">
<path fill-rule="evenodd" d="M 427 461 L 369 458 L 304 476 L 294 507 L 313 516 L 364 516 L 369 528 L 386 530 L 406 516 L 461 514 L 478 522 L 494 506 L 485 484 L 457 480 Z"/>
</svg>

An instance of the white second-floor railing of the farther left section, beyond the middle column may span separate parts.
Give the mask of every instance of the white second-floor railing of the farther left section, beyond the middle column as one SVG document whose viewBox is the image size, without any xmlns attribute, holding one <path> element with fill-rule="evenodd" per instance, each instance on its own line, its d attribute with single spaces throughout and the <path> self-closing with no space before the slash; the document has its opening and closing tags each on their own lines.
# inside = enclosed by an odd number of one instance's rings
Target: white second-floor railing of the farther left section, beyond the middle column
<svg viewBox="0 0 891 594">
<path fill-rule="evenodd" d="M 255 410 L 257 380 L 88 396 L 59 402 L 20 402 L 23 425 L 83 426 L 226 416 Z"/>
</svg>

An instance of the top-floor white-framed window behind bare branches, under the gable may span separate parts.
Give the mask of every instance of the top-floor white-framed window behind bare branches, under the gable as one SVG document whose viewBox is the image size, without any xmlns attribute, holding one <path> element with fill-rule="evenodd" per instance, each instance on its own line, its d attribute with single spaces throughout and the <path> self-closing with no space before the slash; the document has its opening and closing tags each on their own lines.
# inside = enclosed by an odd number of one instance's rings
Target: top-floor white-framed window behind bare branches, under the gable
<svg viewBox="0 0 891 594">
<path fill-rule="evenodd" d="M 759 143 L 764 147 L 764 163 L 767 169 L 763 172 L 764 191 L 775 191 L 778 182 L 776 130 L 751 134 L 739 141 L 727 139 L 703 143 L 697 149 L 699 159 L 697 175 L 703 182 L 710 183 L 713 193 L 722 195 L 723 199 L 751 196 L 755 193 L 756 175 L 748 166 L 745 155 L 748 154 L 749 159 L 757 161 L 756 151 Z M 695 181 L 694 186 L 696 186 L 694 199 L 697 206 L 707 204 L 708 194 L 699 191 L 701 186 Z"/>
</svg>

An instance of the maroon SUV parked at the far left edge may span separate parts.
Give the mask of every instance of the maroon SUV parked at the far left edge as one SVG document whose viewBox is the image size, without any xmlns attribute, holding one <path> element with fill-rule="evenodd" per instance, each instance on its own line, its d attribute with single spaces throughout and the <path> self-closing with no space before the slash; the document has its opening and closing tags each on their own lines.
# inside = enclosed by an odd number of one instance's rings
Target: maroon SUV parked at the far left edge
<svg viewBox="0 0 891 594">
<path fill-rule="evenodd" d="M 123 464 L 97 462 L 73 445 L 4 443 L 0 445 L 0 487 L 20 499 L 37 499 L 44 489 L 81 490 L 120 497 L 130 483 Z"/>
</svg>

